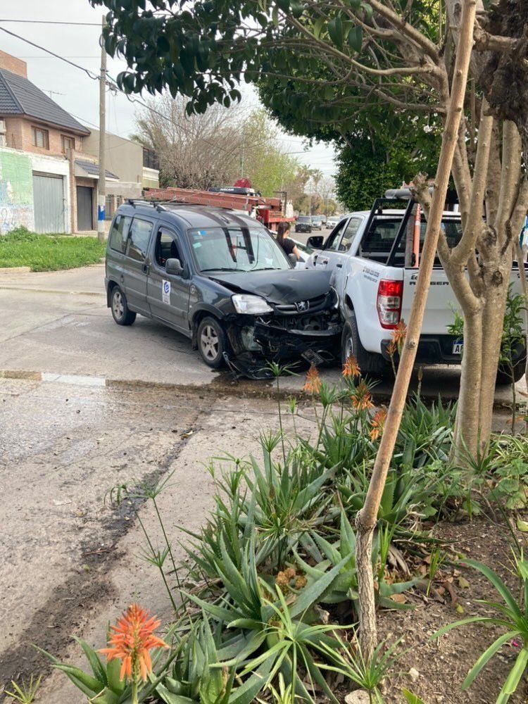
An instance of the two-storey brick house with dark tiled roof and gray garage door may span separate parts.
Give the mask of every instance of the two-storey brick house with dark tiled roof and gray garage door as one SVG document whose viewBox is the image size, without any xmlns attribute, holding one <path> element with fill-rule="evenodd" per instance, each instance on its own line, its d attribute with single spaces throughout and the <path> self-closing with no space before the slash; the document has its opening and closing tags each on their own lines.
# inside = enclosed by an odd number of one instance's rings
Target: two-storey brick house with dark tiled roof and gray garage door
<svg viewBox="0 0 528 704">
<path fill-rule="evenodd" d="M 27 79 L 27 65 L 0 51 L 0 233 L 96 226 L 99 165 L 84 153 L 90 130 Z M 106 182 L 118 177 L 106 171 Z"/>
</svg>

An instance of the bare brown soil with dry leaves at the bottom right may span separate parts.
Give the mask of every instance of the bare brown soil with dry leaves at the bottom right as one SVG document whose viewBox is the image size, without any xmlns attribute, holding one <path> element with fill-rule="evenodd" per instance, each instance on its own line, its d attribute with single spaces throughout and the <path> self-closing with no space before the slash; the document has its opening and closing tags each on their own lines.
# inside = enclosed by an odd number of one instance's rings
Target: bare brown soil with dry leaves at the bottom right
<svg viewBox="0 0 528 704">
<path fill-rule="evenodd" d="M 455 553 L 484 562 L 498 572 L 515 594 L 517 583 L 508 571 L 511 567 L 508 563 L 511 536 L 506 527 L 478 518 L 472 522 L 441 523 L 435 535 L 449 541 Z M 522 541 L 522 534 L 517 534 L 517 538 Z M 415 605 L 414 610 L 379 613 L 380 636 L 389 641 L 402 637 L 401 647 L 406 651 L 396 665 L 396 670 L 401 674 L 386 681 L 384 698 L 387 704 L 400 704 L 403 701 L 403 687 L 422 697 L 426 704 L 494 704 L 519 652 L 514 646 L 502 648 L 470 689 L 460 691 L 460 684 L 479 655 L 503 631 L 483 624 L 470 624 L 453 629 L 434 641 L 429 641 L 429 636 L 450 622 L 470 616 L 491 615 L 492 610 L 478 603 L 478 600 L 500 599 L 477 570 L 469 567 L 455 570 L 448 566 L 441 567 L 441 570 L 446 577 L 453 576 L 454 571 L 453 591 L 456 603 L 452 603 L 448 594 L 442 603 L 432 593 L 427 598 L 425 594 L 415 592 L 409 598 L 410 603 Z M 459 582 L 460 577 L 465 582 Z M 456 605 L 463 609 L 463 613 L 457 612 Z M 411 668 L 417 671 L 417 677 L 415 672 L 412 673 L 414 678 L 410 677 Z M 510 701 L 512 704 L 525 704 L 528 701 L 526 682 Z"/>
</svg>

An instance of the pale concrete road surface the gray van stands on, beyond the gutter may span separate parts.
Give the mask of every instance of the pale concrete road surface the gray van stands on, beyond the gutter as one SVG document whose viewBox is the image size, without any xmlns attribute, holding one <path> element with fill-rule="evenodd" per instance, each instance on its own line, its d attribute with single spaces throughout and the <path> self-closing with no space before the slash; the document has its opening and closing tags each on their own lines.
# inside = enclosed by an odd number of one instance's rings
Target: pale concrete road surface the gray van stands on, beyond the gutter
<svg viewBox="0 0 528 704">
<path fill-rule="evenodd" d="M 113 322 L 106 308 L 104 267 L 44 273 L 13 273 L 0 277 L 0 374 L 23 372 L 100 377 L 109 383 L 134 382 L 178 388 L 209 388 L 239 396 L 273 392 L 270 381 L 244 380 L 235 384 L 227 370 L 210 370 L 190 341 L 172 329 L 138 316 L 131 327 Z M 329 383 L 340 378 L 336 365 L 322 370 Z M 458 367 L 426 367 L 422 394 L 458 398 Z M 284 393 L 299 393 L 304 372 L 285 376 Z M 417 386 L 416 376 L 413 388 Z M 391 379 L 380 382 L 375 393 L 386 399 Z M 526 398 L 524 379 L 517 384 Z M 508 386 L 498 387 L 496 404 L 508 406 Z"/>
</svg>

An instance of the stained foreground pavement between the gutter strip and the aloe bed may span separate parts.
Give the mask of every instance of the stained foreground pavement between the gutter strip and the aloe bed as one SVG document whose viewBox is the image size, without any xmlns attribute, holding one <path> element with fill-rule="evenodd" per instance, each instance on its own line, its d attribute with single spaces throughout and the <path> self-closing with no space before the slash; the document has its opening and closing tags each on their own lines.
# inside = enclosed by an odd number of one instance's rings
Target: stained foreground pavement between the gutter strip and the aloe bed
<svg viewBox="0 0 528 704">
<path fill-rule="evenodd" d="M 51 674 L 32 643 L 83 665 L 71 636 L 103 647 L 106 625 L 132 601 L 170 620 L 132 505 L 113 507 L 108 491 L 170 476 L 157 502 L 180 563 L 181 529 L 198 532 L 212 508 L 210 458 L 258 457 L 258 436 L 277 426 L 277 406 L 61 377 L 0 379 L 0 408 L 0 695 L 11 679 L 44 672 L 39 702 L 81 704 L 86 698 Z M 296 427 L 313 432 L 309 410 Z M 152 503 L 136 505 L 153 545 L 163 548 Z"/>
</svg>

